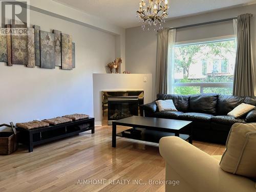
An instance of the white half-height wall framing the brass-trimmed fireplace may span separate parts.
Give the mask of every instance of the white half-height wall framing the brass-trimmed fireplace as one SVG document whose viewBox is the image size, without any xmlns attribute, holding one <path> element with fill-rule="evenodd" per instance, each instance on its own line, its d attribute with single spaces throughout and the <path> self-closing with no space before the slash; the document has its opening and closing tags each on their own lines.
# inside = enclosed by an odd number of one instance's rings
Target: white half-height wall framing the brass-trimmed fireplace
<svg viewBox="0 0 256 192">
<path fill-rule="evenodd" d="M 147 82 L 144 81 L 146 77 Z M 144 91 L 144 103 L 152 101 L 152 74 L 93 74 L 95 122 L 102 122 L 102 91 Z"/>
</svg>

